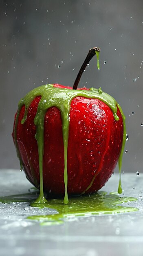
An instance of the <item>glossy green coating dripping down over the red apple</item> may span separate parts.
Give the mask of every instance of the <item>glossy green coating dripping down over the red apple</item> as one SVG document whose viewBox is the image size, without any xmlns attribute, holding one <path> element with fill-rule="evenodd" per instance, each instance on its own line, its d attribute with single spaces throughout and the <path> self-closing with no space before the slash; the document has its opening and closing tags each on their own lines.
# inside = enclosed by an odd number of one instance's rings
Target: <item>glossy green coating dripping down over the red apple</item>
<svg viewBox="0 0 143 256">
<path fill-rule="evenodd" d="M 29 110 L 29 106 L 35 97 L 41 96 L 40 102 L 38 104 L 37 113 L 35 115 L 34 124 L 36 126 L 36 135 L 35 138 L 37 139 L 38 145 L 38 153 L 39 153 L 39 172 L 40 172 L 40 195 L 35 200 L 32 206 L 39 206 L 39 204 L 47 203 L 46 198 L 44 197 L 43 192 L 43 154 L 44 154 L 44 118 L 46 111 L 48 108 L 57 107 L 61 112 L 62 118 L 62 133 L 63 133 L 63 141 L 64 141 L 64 185 L 65 185 L 65 196 L 64 196 L 64 204 L 68 204 L 68 172 L 67 172 L 67 149 L 68 149 L 68 129 L 69 129 L 69 115 L 70 115 L 70 103 L 72 99 L 75 97 L 85 97 L 85 98 L 92 98 L 92 99 L 99 99 L 106 103 L 107 106 L 113 112 L 114 119 L 119 120 L 117 116 L 117 106 L 120 109 L 121 115 L 123 117 L 123 143 L 121 148 L 121 153 L 119 156 L 119 171 L 121 175 L 121 162 L 122 162 L 122 155 L 125 146 L 125 138 L 126 138 L 126 131 L 125 131 L 125 117 L 123 115 L 123 111 L 119 104 L 114 98 L 108 95 L 105 92 L 102 92 L 101 88 L 99 90 L 95 88 L 90 88 L 90 90 L 72 90 L 72 89 L 63 89 L 63 88 L 55 88 L 53 85 L 42 85 L 31 90 L 26 96 L 20 100 L 18 106 L 18 113 L 15 121 L 15 146 L 17 149 L 17 154 L 20 159 L 20 165 L 22 166 L 22 159 L 20 157 L 20 152 L 18 150 L 18 143 L 17 143 L 17 124 L 18 124 L 18 117 L 20 114 L 20 110 L 23 105 L 25 105 L 25 112 L 24 117 L 21 121 L 21 124 L 24 124 L 27 113 Z M 121 180 L 121 179 L 120 179 Z M 90 184 L 89 184 L 90 185 Z M 121 193 L 121 185 L 118 191 Z M 45 205 L 46 206 L 46 205 Z"/>
</svg>

